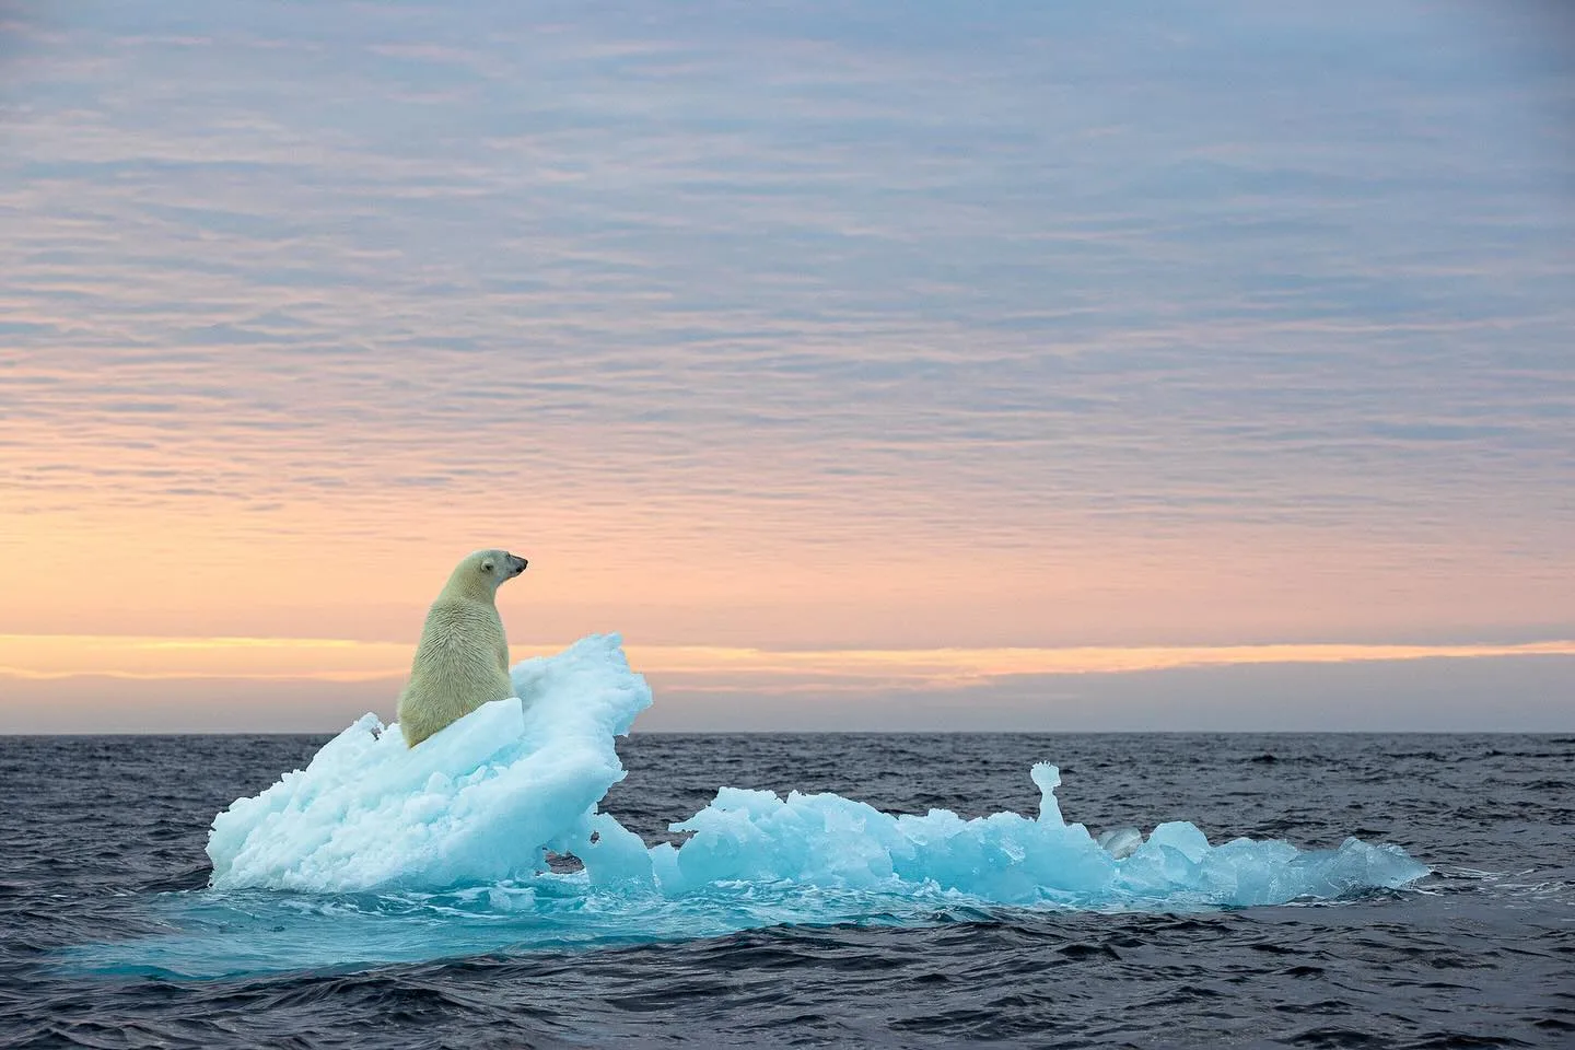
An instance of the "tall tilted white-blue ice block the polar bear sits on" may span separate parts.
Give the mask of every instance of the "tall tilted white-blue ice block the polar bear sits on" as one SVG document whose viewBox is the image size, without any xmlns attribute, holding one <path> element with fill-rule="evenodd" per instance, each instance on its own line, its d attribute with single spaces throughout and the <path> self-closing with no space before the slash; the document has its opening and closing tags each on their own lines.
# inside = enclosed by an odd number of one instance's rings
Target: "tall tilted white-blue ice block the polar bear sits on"
<svg viewBox="0 0 1575 1050">
<path fill-rule="evenodd" d="M 597 803 L 624 779 L 614 738 L 650 707 L 617 636 L 583 638 L 510 674 L 416 748 L 362 715 L 304 770 L 214 817 L 213 886 L 312 893 L 433 889 L 529 875 L 545 850 L 589 844 Z"/>
</svg>

